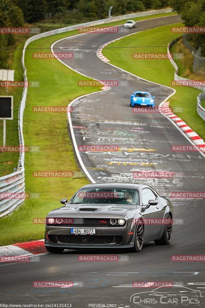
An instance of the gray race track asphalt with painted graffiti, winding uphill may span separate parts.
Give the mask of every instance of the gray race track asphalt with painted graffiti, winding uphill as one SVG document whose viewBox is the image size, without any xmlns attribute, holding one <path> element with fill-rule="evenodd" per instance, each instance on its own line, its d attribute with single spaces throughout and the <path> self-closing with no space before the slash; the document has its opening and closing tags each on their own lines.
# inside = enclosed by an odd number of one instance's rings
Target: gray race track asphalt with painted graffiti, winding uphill
<svg viewBox="0 0 205 308">
<path fill-rule="evenodd" d="M 180 22 L 177 15 L 140 21 L 129 33 L 177 22 Z M 69 50 L 73 53 L 83 52 L 83 59 L 69 59 L 65 60 L 65 63 L 85 75 L 100 80 L 128 81 L 128 86 L 112 87 L 108 91 L 77 100 L 73 108 L 81 107 L 81 111 L 72 113 L 71 118 L 73 126 L 84 127 L 74 128 L 78 145 L 113 144 L 132 150 L 103 154 L 81 152 L 82 161 L 96 182 L 146 181 L 166 196 L 170 196 L 171 192 L 203 192 L 204 157 L 199 152 L 172 152 L 172 145 L 190 145 L 189 141 L 160 113 L 135 114 L 129 106 L 130 94 L 136 89 L 149 91 L 156 96 L 156 106 L 159 106 L 172 90 L 111 67 L 96 55 L 100 46 L 125 34 L 127 33 L 88 33 L 63 39 L 53 46 L 55 52 L 72 47 L 76 47 L 75 51 Z M 88 49 L 89 47 L 94 49 Z M 83 76 L 79 79 L 83 80 Z M 133 179 L 132 172 L 142 170 L 169 170 L 181 173 L 181 176 Z M 176 303 L 179 306 L 203 306 L 204 263 L 174 262 L 171 261 L 171 256 L 205 254 L 204 201 L 186 198 L 171 200 L 174 204 L 174 218 L 183 219 L 183 224 L 173 226 L 171 245 L 156 246 L 154 242 L 148 243 L 140 253 L 126 250 L 66 250 L 61 255 L 41 254 L 40 262 L 0 264 L 1 303 L 71 304 L 73 308 L 97 307 L 91 304 L 105 304 L 105 307 L 107 304 L 113 304 L 113 307 L 116 305 L 127 308 L 163 307 L 165 304 L 160 303 L 160 298 L 164 296 L 161 302 L 166 302 L 168 307 L 173 307 Z M 126 258 L 129 260 L 78 261 L 80 254 L 93 253 L 128 256 Z M 34 288 L 34 281 L 73 281 L 83 282 L 84 286 Z M 134 281 L 167 281 L 174 282 L 175 285 L 180 282 L 181 286 L 160 288 L 157 290 L 160 293 L 153 293 L 151 291 L 154 288 L 133 288 Z M 136 297 L 134 302 L 133 298 L 130 302 L 131 295 L 139 292 L 148 292 L 144 297 L 141 295 L 141 300 L 144 301 L 139 303 L 140 299 Z"/>
</svg>

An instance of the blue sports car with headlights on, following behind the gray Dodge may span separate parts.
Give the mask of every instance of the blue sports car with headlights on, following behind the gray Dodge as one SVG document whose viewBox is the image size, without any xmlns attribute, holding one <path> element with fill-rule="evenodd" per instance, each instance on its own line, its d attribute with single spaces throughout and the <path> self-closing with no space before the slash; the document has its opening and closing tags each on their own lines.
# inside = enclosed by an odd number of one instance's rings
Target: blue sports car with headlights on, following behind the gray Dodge
<svg viewBox="0 0 205 308">
<path fill-rule="evenodd" d="M 147 106 L 155 107 L 155 96 L 152 96 L 149 92 L 137 91 L 130 97 L 130 106 Z"/>
</svg>

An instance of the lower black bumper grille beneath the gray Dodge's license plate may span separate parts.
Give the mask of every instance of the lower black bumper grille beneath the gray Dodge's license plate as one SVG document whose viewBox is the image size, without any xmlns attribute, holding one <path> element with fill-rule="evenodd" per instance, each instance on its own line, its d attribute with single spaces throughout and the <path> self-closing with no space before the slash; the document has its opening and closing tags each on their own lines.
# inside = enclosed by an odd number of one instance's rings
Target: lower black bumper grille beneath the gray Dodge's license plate
<svg viewBox="0 0 205 308">
<path fill-rule="evenodd" d="M 87 239 L 86 242 L 83 242 L 82 239 Z M 49 241 L 51 243 L 57 244 L 57 241 L 59 241 L 62 244 L 83 244 L 83 245 L 89 245 L 89 244 L 120 244 L 122 242 L 122 236 L 97 236 L 92 235 L 87 237 L 82 235 L 49 235 Z"/>
</svg>

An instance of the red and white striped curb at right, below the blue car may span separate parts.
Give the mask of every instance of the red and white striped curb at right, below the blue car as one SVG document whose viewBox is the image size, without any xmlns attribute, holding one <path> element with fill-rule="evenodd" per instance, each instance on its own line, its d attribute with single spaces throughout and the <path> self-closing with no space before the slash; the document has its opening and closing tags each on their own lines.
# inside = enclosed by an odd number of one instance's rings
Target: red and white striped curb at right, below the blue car
<svg viewBox="0 0 205 308">
<path fill-rule="evenodd" d="M 161 105 L 162 108 L 165 110 L 169 107 L 169 102 L 164 102 Z M 180 119 L 177 115 L 175 115 L 172 111 L 162 111 L 166 116 L 168 116 L 183 132 L 184 134 L 199 148 L 205 147 L 204 140 L 195 132 L 193 131 L 182 119 Z M 201 151 L 205 153 L 204 151 Z"/>
</svg>

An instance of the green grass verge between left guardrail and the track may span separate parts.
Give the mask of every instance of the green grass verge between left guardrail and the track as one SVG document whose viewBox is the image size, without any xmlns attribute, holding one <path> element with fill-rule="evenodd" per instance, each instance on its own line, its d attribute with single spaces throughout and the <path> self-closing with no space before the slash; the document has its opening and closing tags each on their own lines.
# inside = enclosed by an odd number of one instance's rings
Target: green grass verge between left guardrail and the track
<svg viewBox="0 0 205 308">
<path fill-rule="evenodd" d="M 119 24 L 119 22 L 118 22 Z M 39 193 L 39 199 L 27 199 L 12 215 L 0 220 L 0 245 L 41 239 L 45 226 L 33 224 L 34 218 L 44 218 L 60 206 L 62 197 L 73 193 L 88 183 L 82 178 L 35 178 L 34 171 L 79 171 L 73 147 L 67 133 L 65 113 L 34 113 L 33 106 L 67 106 L 77 96 L 97 91 L 99 88 L 77 87 L 81 75 L 69 70 L 56 59 L 33 59 L 38 48 L 51 44 L 78 31 L 49 36 L 30 43 L 26 50 L 25 64 L 28 80 L 39 81 L 40 87 L 29 88 L 24 111 L 24 139 L 28 146 L 39 146 L 40 152 L 25 154 L 26 193 Z M 40 52 L 49 52 L 41 49 Z M 83 79 L 86 79 L 83 77 Z"/>
</svg>

